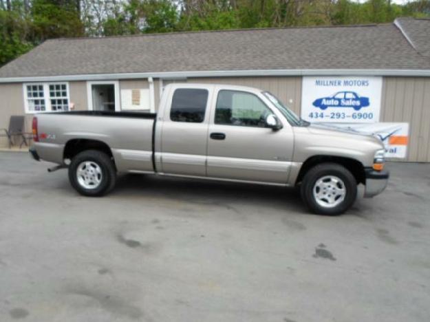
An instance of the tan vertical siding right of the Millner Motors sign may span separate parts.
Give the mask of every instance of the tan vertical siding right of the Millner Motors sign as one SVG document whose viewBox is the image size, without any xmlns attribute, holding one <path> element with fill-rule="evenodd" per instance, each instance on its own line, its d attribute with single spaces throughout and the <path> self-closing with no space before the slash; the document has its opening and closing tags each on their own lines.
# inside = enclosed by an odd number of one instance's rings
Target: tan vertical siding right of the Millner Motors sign
<svg viewBox="0 0 430 322">
<path fill-rule="evenodd" d="M 407 161 L 430 162 L 430 78 L 385 77 L 381 122 L 408 122 Z"/>
</svg>

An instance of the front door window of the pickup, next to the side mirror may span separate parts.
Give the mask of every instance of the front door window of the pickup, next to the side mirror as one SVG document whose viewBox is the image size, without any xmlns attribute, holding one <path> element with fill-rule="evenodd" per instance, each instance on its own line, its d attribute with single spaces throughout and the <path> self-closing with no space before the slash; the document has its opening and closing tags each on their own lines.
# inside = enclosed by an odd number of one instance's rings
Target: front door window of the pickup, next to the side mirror
<svg viewBox="0 0 430 322">
<path fill-rule="evenodd" d="M 222 90 L 215 107 L 215 124 L 241 127 L 266 127 L 272 111 L 254 94 Z"/>
</svg>

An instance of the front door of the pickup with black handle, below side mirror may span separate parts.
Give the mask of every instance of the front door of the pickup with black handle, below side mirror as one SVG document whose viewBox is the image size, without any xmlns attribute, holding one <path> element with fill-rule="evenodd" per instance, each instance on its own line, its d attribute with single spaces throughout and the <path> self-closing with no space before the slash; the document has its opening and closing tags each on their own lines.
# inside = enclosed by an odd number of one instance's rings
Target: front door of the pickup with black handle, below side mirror
<svg viewBox="0 0 430 322">
<path fill-rule="evenodd" d="M 215 90 L 209 125 L 208 177 L 286 184 L 290 171 L 292 127 L 261 92 Z M 275 114 L 283 128 L 266 127 Z"/>
</svg>

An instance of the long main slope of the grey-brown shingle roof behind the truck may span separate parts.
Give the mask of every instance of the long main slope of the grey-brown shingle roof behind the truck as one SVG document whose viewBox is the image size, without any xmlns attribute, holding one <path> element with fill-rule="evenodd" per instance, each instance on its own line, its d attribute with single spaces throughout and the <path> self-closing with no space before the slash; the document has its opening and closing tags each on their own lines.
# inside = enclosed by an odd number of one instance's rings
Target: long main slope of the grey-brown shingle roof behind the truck
<svg viewBox="0 0 430 322">
<path fill-rule="evenodd" d="M 426 53 L 420 23 L 405 30 Z M 178 32 L 45 41 L 0 78 L 253 69 L 430 69 L 430 59 L 392 23 Z"/>
</svg>

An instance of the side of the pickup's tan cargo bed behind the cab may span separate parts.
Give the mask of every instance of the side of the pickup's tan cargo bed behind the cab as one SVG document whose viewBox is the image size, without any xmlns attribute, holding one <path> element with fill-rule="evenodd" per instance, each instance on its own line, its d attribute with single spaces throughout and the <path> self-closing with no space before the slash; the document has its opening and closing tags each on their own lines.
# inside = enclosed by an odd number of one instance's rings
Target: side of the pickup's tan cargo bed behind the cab
<svg viewBox="0 0 430 322">
<path fill-rule="evenodd" d="M 153 113 L 67 111 L 36 114 L 42 160 L 63 163 L 68 144 L 92 140 L 106 144 L 118 171 L 153 171 Z"/>
</svg>

